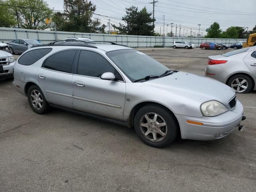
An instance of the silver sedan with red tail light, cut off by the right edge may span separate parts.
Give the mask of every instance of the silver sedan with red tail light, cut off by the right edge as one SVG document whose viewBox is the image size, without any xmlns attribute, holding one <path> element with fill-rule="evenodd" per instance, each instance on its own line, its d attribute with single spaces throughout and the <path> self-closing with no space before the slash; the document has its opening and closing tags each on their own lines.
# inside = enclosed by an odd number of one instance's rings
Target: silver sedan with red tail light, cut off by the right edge
<svg viewBox="0 0 256 192">
<path fill-rule="evenodd" d="M 227 84 L 237 93 L 256 90 L 256 46 L 209 56 L 205 76 Z"/>
</svg>

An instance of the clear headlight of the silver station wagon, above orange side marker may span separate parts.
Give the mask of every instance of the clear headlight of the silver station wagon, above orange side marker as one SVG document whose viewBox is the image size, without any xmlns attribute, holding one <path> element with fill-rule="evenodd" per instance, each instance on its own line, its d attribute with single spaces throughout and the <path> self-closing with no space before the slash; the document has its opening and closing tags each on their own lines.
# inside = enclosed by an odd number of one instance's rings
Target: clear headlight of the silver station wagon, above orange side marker
<svg viewBox="0 0 256 192">
<path fill-rule="evenodd" d="M 201 105 L 201 112 L 206 117 L 217 116 L 227 111 L 228 109 L 224 104 L 215 100 L 204 102 Z"/>
</svg>

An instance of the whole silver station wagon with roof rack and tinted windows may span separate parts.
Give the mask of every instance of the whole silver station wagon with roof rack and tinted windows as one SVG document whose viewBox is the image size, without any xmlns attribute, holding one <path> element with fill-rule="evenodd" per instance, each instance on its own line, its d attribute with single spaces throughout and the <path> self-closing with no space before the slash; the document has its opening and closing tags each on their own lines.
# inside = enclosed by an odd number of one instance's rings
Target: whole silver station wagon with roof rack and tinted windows
<svg viewBox="0 0 256 192">
<path fill-rule="evenodd" d="M 244 108 L 229 86 L 115 43 L 31 48 L 14 65 L 13 86 L 38 114 L 54 107 L 134 127 L 153 147 L 179 135 L 215 140 L 244 128 Z"/>
</svg>

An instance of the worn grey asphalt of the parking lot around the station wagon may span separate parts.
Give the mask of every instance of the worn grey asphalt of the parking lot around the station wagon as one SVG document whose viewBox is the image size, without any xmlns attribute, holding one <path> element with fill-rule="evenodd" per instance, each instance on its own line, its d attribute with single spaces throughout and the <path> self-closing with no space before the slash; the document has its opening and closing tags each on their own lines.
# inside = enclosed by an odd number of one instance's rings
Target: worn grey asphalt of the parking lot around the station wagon
<svg viewBox="0 0 256 192">
<path fill-rule="evenodd" d="M 204 75 L 230 50 L 143 48 L 171 69 Z M 19 55 L 16 55 L 16 58 Z M 0 81 L 0 191 L 256 191 L 256 92 L 238 94 L 247 119 L 215 141 L 143 144 L 133 129 L 53 109 L 39 115 Z"/>
</svg>

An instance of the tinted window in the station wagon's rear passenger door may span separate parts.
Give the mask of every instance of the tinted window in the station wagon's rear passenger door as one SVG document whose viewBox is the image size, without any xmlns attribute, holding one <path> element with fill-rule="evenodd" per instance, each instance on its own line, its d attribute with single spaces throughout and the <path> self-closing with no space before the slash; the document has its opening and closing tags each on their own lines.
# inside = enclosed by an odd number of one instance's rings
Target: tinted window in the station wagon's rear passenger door
<svg viewBox="0 0 256 192">
<path fill-rule="evenodd" d="M 74 49 L 57 52 L 45 60 L 43 67 L 60 72 L 71 73 L 75 54 L 76 50 Z"/>
</svg>

